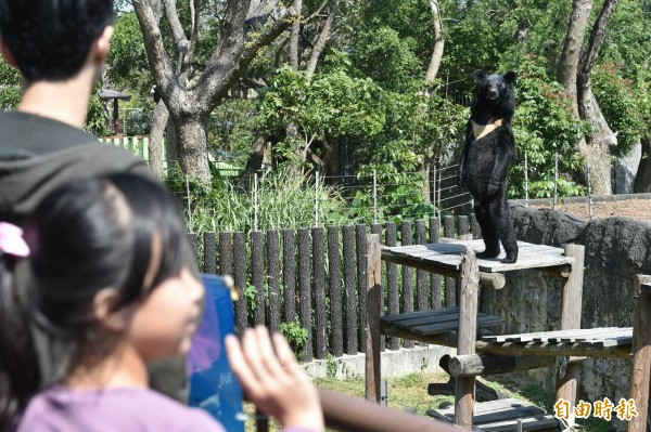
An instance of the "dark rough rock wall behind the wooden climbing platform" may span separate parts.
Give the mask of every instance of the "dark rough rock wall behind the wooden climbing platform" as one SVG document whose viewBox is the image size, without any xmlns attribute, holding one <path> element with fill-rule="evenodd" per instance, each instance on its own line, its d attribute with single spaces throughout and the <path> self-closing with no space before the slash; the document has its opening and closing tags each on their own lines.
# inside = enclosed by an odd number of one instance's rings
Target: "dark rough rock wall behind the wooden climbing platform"
<svg viewBox="0 0 651 432">
<path fill-rule="evenodd" d="M 567 214 L 512 204 L 518 239 L 562 247 L 586 248 L 582 327 L 633 325 L 638 274 L 651 274 L 651 224 L 627 218 L 586 222 Z M 562 279 L 538 271 L 507 274 L 501 290 L 482 290 L 480 310 L 503 316 L 506 333 L 545 331 L 560 325 Z M 582 364 L 578 398 L 601 401 L 628 398 L 630 362 L 595 359 Z M 499 377 L 494 377 L 499 379 Z M 537 381 L 553 391 L 553 370 L 512 374 L 509 379 Z"/>
</svg>

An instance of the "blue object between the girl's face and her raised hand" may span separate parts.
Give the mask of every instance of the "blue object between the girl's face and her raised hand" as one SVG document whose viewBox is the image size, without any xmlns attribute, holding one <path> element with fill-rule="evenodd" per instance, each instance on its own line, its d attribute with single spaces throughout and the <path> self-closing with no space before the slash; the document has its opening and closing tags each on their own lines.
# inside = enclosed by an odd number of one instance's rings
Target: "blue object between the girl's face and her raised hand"
<svg viewBox="0 0 651 432">
<path fill-rule="evenodd" d="M 231 292 L 224 277 L 202 276 L 205 311 L 188 355 L 190 406 L 208 411 L 229 432 L 244 432 L 242 388 L 230 369 L 224 338 L 234 333 Z"/>
</svg>

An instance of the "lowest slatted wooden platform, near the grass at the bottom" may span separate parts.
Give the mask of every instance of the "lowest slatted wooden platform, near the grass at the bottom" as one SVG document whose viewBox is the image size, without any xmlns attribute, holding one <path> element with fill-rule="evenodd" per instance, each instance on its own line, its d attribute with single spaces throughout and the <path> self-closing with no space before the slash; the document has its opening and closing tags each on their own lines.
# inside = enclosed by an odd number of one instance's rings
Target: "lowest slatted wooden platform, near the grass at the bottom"
<svg viewBox="0 0 651 432">
<path fill-rule="evenodd" d="M 431 409 L 427 416 L 448 422 L 455 421 L 454 406 L 445 409 Z M 506 398 L 474 404 L 472 422 L 487 432 L 507 432 L 518 430 L 518 420 L 522 420 L 523 431 L 560 430 L 553 416 L 535 405 L 514 398 Z"/>
</svg>

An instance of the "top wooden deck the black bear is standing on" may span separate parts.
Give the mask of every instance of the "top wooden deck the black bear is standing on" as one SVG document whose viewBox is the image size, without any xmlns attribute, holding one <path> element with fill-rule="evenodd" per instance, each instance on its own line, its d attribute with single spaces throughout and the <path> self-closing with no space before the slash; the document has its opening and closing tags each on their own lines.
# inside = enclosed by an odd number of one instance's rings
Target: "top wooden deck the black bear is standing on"
<svg viewBox="0 0 651 432">
<path fill-rule="evenodd" d="M 409 265 L 438 274 L 457 275 L 460 272 L 461 254 L 465 247 L 476 252 L 484 250 L 484 240 L 455 240 L 429 245 L 382 247 L 382 259 L 397 264 Z M 545 245 L 518 241 L 518 262 L 503 264 L 502 251 L 498 258 L 477 260 L 480 272 L 496 273 L 524 269 L 569 266 L 574 262 L 563 254 L 563 249 Z"/>
</svg>

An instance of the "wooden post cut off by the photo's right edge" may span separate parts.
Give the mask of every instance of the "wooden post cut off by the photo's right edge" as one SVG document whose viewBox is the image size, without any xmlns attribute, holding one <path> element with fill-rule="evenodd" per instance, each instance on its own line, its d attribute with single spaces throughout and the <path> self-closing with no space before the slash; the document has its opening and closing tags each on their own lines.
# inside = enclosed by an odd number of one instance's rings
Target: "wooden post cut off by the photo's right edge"
<svg viewBox="0 0 651 432">
<path fill-rule="evenodd" d="M 649 370 L 651 369 L 651 276 L 638 275 L 638 298 L 633 323 L 633 365 L 630 398 L 637 417 L 628 422 L 628 432 L 646 431 L 649 410 Z"/>
</svg>

